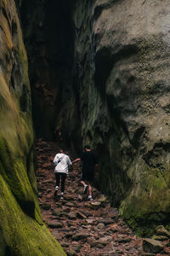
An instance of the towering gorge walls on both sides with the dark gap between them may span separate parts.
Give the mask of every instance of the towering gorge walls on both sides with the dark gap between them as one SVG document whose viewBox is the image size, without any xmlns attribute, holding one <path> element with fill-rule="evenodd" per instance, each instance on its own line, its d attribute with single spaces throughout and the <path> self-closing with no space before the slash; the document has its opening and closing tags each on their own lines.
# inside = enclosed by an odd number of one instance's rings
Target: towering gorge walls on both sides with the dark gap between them
<svg viewBox="0 0 170 256">
<path fill-rule="evenodd" d="M 0 255 L 65 255 L 43 224 L 35 142 L 99 159 L 139 236 L 170 213 L 168 0 L 0 2 Z"/>
</svg>

